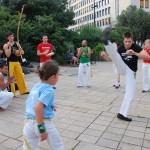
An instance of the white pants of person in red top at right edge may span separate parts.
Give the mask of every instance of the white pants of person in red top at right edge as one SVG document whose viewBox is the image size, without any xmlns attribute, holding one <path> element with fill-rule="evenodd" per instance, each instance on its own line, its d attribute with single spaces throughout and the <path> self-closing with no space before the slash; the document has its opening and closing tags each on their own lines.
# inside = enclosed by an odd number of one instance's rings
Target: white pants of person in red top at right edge
<svg viewBox="0 0 150 150">
<path fill-rule="evenodd" d="M 143 63 L 143 90 L 150 91 L 150 64 Z"/>
</svg>

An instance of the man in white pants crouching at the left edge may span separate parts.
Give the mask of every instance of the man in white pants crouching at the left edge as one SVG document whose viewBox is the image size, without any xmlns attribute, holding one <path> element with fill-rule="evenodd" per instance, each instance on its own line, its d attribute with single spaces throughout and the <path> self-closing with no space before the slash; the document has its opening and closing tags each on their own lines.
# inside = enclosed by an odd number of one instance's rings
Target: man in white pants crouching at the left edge
<svg viewBox="0 0 150 150">
<path fill-rule="evenodd" d="M 3 74 L 7 74 L 7 73 L 8 73 L 8 67 L 0 63 L 0 111 L 4 111 L 14 97 L 14 94 L 12 92 L 4 91 L 11 83 L 14 82 L 15 79 L 15 77 L 12 76 L 5 83 Z"/>
</svg>

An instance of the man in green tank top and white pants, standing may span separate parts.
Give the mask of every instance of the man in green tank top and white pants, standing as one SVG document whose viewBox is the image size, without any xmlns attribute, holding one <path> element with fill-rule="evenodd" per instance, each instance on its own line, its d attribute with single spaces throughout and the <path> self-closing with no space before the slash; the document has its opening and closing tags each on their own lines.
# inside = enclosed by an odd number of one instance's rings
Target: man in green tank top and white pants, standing
<svg viewBox="0 0 150 150">
<path fill-rule="evenodd" d="M 91 49 L 87 46 L 87 41 L 82 41 L 82 47 L 78 49 L 77 56 L 80 58 L 79 70 L 78 70 L 78 88 L 83 87 L 83 74 L 86 73 L 87 87 L 91 87 L 90 79 L 90 57 Z"/>
</svg>

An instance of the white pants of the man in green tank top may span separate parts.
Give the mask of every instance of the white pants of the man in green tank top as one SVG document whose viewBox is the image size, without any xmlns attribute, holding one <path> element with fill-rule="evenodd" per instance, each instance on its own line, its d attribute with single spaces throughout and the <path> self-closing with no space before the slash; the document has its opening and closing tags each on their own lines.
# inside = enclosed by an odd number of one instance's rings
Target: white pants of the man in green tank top
<svg viewBox="0 0 150 150">
<path fill-rule="evenodd" d="M 91 86 L 90 79 L 90 62 L 80 63 L 78 69 L 78 86 L 83 86 L 83 74 L 86 73 L 87 86 Z"/>
</svg>

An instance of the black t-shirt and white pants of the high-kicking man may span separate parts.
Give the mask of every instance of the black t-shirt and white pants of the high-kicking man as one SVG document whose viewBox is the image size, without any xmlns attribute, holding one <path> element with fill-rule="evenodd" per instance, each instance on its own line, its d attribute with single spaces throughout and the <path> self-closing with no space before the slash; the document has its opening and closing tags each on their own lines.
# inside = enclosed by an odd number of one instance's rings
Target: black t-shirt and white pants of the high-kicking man
<svg viewBox="0 0 150 150">
<path fill-rule="evenodd" d="M 115 43 L 109 43 L 105 46 L 105 48 L 120 74 L 125 76 L 125 96 L 119 113 L 127 117 L 129 106 L 136 90 L 136 71 L 138 57 L 126 55 L 126 49 L 124 46 L 121 46 L 117 52 L 117 46 Z M 133 49 L 138 53 L 142 51 L 142 48 L 134 43 L 130 49 Z"/>
</svg>

